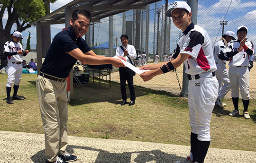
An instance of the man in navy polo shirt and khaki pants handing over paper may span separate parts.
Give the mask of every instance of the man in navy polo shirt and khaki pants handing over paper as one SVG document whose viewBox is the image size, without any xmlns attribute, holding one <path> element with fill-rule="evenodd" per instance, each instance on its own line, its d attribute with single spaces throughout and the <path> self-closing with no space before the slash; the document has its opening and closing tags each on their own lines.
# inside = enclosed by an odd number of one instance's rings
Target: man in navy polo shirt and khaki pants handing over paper
<svg viewBox="0 0 256 163">
<path fill-rule="evenodd" d="M 66 152 L 68 99 L 65 81 L 76 61 L 91 65 L 112 64 L 115 67 L 125 67 L 119 59 L 97 56 L 82 39 L 90 22 L 90 11 L 73 11 L 71 26 L 55 35 L 37 77 L 37 95 L 45 132 L 46 163 L 77 160 L 75 155 Z"/>
</svg>

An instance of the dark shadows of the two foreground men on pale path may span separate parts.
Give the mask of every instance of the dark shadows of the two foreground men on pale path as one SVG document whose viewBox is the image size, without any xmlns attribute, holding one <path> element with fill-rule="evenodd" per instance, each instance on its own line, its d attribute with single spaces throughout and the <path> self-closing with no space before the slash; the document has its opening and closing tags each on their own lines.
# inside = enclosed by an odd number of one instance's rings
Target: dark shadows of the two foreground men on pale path
<svg viewBox="0 0 256 163">
<path fill-rule="evenodd" d="M 73 149 L 83 149 L 87 151 L 93 151 L 93 153 L 98 152 L 94 163 L 131 163 L 131 161 L 136 163 L 148 163 L 151 161 L 155 161 L 156 163 L 172 163 L 176 160 L 183 159 L 183 157 L 178 157 L 174 154 L 167 154 L 161 150 L 111 153 L 109 151 L 86 146 L 67 146 L 67 151 L 71 154 L 74 153 Z M 135 159 L 132 157 L 132 154 L 137 155 Z M 41 150 L 34 154 L 31 157 L 31 160 L 34 163 L 45 163 L 45 150 Z M 81 157 L 78 156 L 78 161 L 79 160 L 83 161 Z M 90 158 L 90 160 L 94 159 Z"/>
</svg>

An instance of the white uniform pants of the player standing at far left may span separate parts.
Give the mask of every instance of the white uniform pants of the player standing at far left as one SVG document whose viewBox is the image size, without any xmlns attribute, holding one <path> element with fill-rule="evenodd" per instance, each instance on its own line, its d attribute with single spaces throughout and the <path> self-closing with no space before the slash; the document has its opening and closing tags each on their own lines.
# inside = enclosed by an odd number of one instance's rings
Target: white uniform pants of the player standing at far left
<svg viewBox="0 0 256 163">
<path fill-rule="evenodd" d="M 19 86 L 21 75 L 22 75 L 22 63 L 17 64 L 8 62 L 7 64 L 7 84 L 6 86 L 11 87 L 14 83 L 16 86 Z"/>
</svg>

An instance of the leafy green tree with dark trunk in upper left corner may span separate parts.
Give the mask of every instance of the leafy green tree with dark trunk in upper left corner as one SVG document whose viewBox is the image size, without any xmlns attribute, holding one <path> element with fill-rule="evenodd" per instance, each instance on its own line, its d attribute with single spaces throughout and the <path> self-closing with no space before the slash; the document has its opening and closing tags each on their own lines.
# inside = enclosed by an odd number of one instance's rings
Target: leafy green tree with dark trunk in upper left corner
<svg viewBox="0 0 256 163">
<path fill-rule="evenodd" d="M 49 12 L 47 4 L 57 0 L 0 0 L 0 59 L 1 65 L 7 66 L 7 57 L 3 53 L 3 45 L 12 39 L 11 27 L 15 24 L 16 31 L 22 32 L 30 28 L 29 23 Z M 7 11 L 8 19 L 3 27 L 3 15 Z"/>
</svg>

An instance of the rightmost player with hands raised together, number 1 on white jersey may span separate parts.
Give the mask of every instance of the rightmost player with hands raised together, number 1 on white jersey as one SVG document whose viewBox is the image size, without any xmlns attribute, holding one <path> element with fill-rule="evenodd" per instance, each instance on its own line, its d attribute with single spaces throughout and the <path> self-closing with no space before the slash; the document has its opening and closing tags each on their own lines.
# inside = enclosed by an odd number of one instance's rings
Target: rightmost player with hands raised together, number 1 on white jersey
<svg viewBox="0 0 256 163">
<path fill-rule="evenodd" d="M 239 88 L 244 105 L 243 115 L 246 119 L 250 119 L 248 106 L 250 101 L 249 95 L 249 55 L 253 55 L 253 43 L 247 41 L 248 29 L 246 26 L 239 26 L 237 31 L 238 40 L 229 43 L 226 53 L 221 53 L 220 58 L 228 57 L 229 61 L 229 79 L 231 86 L 231 97 L 234 104 L 234 110 L 229 113 L 229 116 L 239 115 L 238 100 Z M 227 60 L 228 60 L 227 59 Z"/>
</svg>

